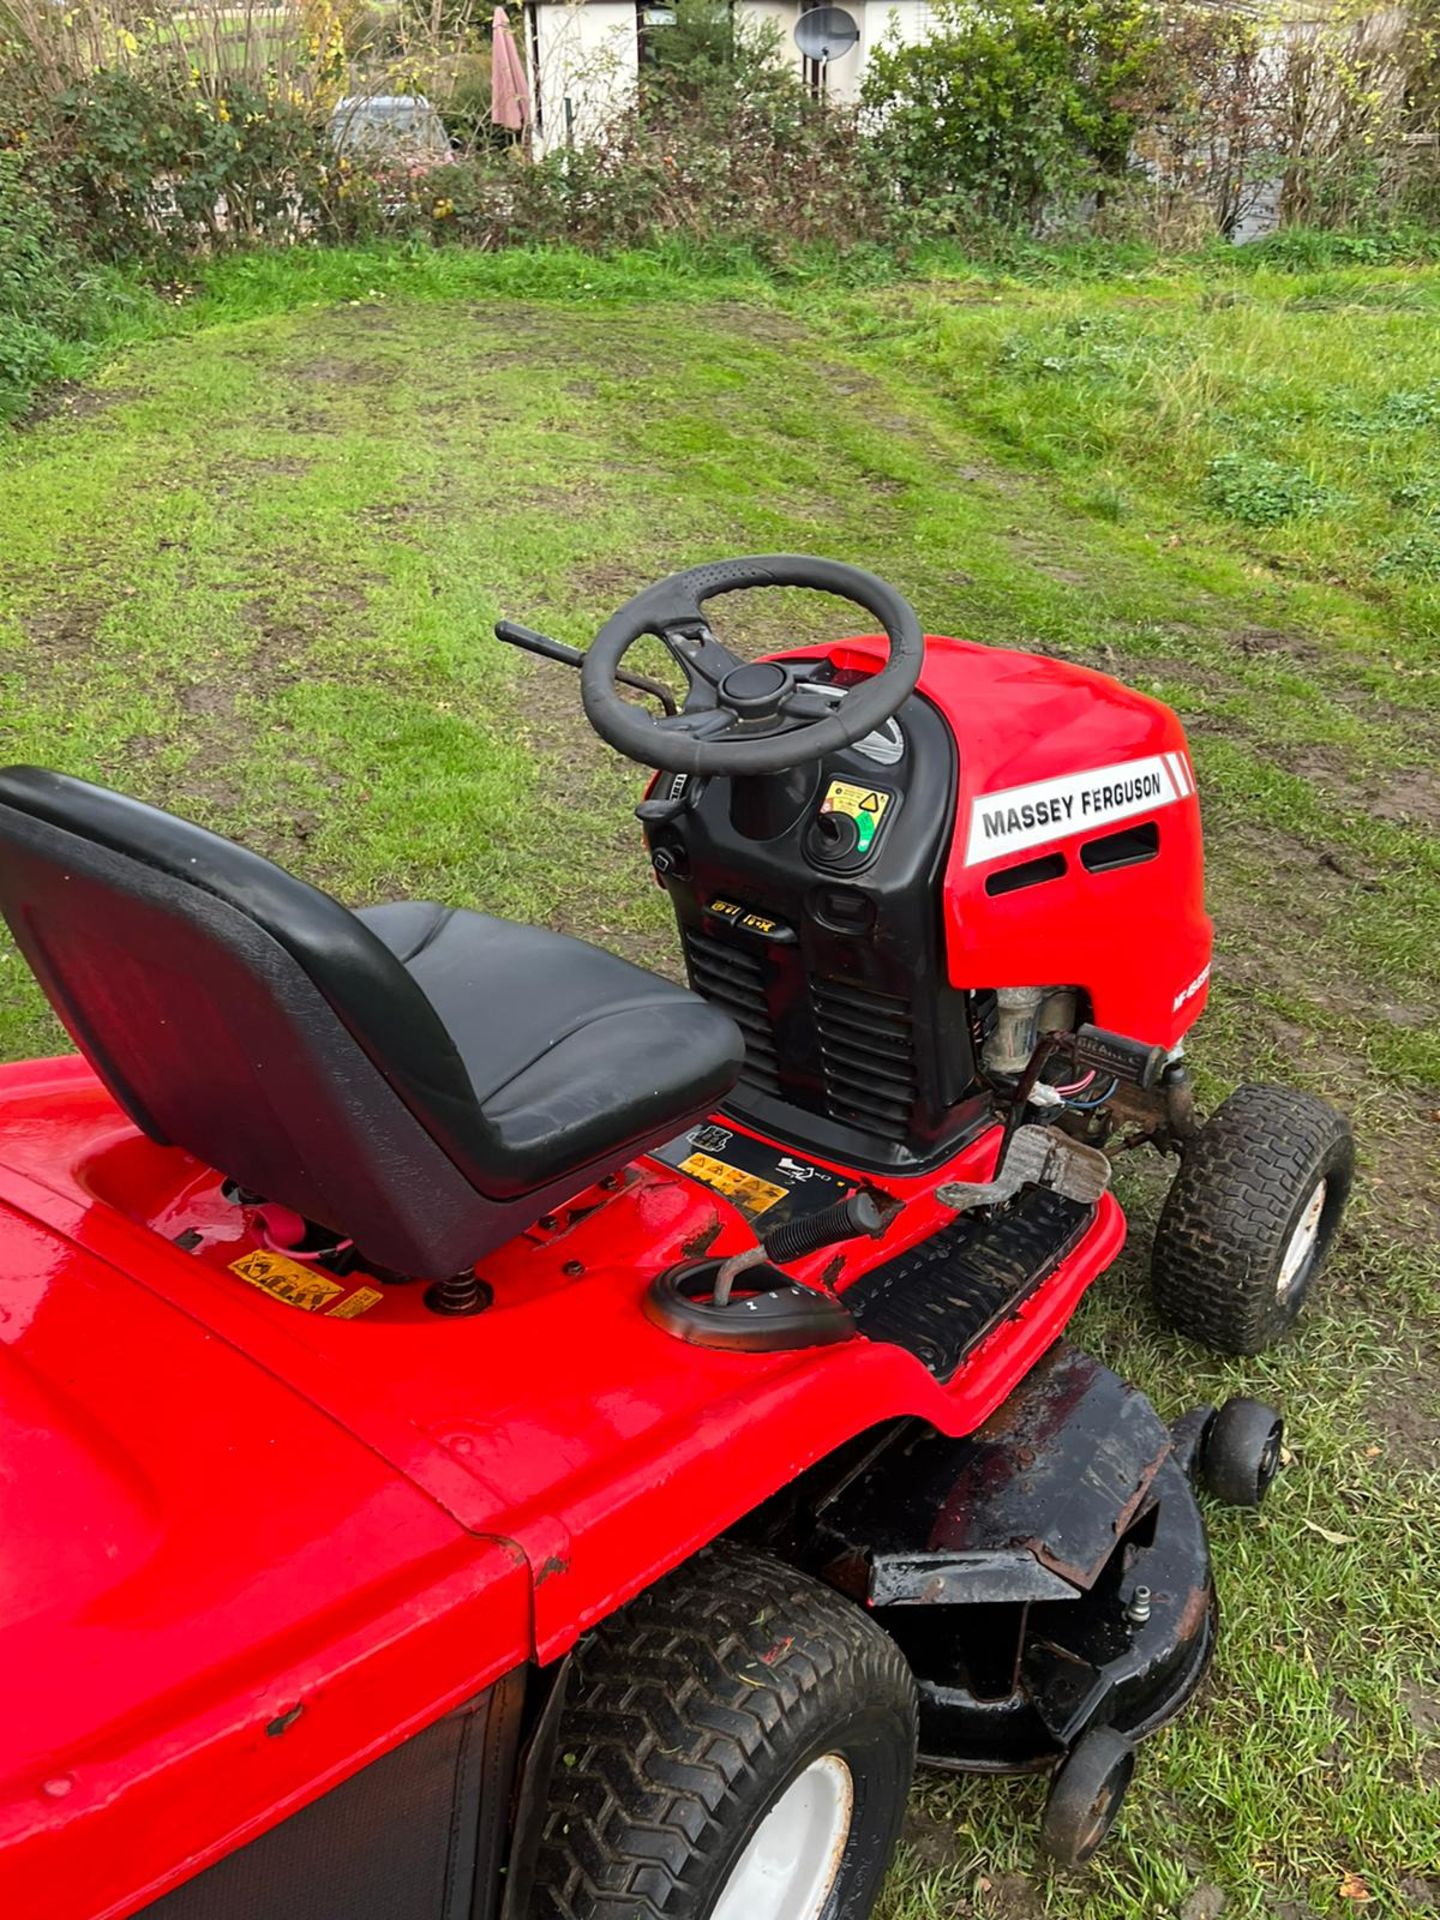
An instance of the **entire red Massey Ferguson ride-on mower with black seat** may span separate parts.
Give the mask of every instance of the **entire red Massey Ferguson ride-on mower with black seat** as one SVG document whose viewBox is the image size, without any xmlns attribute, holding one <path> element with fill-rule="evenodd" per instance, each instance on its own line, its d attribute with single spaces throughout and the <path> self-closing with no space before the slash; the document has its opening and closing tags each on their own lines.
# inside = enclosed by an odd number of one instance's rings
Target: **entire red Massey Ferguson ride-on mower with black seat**
<svg viewBox="0 0 1440 1920">
<path fill-rule="evenodd" d="M 705 605 L 770 586 L 887 637 L 745 662 Z M 1064 1340 L 1112 1154 L 1179 1158 L 1156 1306 L 1250 1354 L 1352 1146 L 1196 1119 L 1177 718 L 783 555 L 582 664 L 693 991 L 0 774 L 81 1050 L 0 1069 L 8 1920 L 860 1920 L 916 1751 L 1048 1772 L 1079 1862 L 1206 1670 L 1194 1486 L 1281 1423 Z"/>
</svg>

